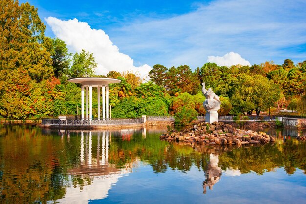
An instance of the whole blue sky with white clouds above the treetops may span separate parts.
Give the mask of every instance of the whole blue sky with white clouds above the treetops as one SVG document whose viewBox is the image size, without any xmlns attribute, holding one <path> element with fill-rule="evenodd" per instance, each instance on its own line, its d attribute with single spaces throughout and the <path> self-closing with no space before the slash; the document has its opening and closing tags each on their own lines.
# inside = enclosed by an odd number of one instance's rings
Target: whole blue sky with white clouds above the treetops
<svg viewBox="0 0 306 204">
<path fill-rule="evenodd" d="M 46 35 L 92 52 L 97 74 L 155 64 L 231 66 L 306 60 L 306 0 L 19 0 Z"/>
</svg>

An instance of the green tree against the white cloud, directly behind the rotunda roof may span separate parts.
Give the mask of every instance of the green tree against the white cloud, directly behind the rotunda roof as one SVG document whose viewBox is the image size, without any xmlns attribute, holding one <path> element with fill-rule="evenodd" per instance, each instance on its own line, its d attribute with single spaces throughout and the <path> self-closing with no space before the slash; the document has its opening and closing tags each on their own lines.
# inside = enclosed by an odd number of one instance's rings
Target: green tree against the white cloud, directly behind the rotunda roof
<svg viewBox="0 0 306 204">
<path fill-rule="evenodd" d="M 73 56 L 69 78 L 92 77 L 96 67 L 93 54 L 82 49 L 80 54 L 76 52 Z"/>
</svg>

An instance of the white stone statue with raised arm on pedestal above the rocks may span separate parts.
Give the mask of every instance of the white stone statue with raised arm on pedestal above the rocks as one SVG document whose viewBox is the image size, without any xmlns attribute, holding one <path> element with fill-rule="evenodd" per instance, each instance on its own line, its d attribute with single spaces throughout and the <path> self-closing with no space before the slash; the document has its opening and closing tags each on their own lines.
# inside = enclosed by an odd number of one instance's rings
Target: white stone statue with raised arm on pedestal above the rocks
<svg viewBox="0 0 306 204">
<path fill-rule="evenodd" d="M 203 105 L 206 110 L 205 119 L 208 123 L 218 122 L 218 112 L 221 107 L 221 101 L 219 97 L 214 93 L 214 91 L 209 88 L 206 90 L 205 83 L 202 83 L 202 93 L 206 97 L 206 100 L 204 101 Z"/>
</svg>

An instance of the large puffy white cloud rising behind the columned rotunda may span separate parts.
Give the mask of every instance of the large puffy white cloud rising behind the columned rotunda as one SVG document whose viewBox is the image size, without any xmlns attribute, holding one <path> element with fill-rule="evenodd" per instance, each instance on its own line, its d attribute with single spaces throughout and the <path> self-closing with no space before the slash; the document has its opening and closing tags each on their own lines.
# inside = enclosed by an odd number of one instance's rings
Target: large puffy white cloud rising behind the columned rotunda
<svg viewBox="0 0 306 204">
<path fill-rule="evenodd" d="M 109 71 L 132 71 L 145 77 L 151 67 L 147 64 L 140 67 L 133 65 L 134 61 L 126 54 L 119 52 L 109 36 L 103 30 L 92 29 L 88 23 L 77 19 L 63 21 L 54 17 L 45 19 L 55 36 L 64 40 L 71 51 L 80 52 L 85 49 L 93 53 L 98 64 L 96 74 L 106 75 Z"/>
</svg>

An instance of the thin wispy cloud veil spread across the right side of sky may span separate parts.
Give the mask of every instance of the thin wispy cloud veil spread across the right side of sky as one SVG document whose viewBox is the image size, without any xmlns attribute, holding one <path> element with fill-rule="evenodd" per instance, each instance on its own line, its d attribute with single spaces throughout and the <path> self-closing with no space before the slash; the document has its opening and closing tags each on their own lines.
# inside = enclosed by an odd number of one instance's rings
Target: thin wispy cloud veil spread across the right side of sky
<svg viewBox="0 0 306 204">
<path fill-rule="evenodd" d="M 135 17 L 109 35 L 126 53 L 151 66 L 197 68 L 207 56 L 230 50 L 251 64 L 282 64 L 287 58 L 299 62 L 306 53 L 305 8 L 305 0 L 213 0 L 181 15 Z"/>
</svg>

